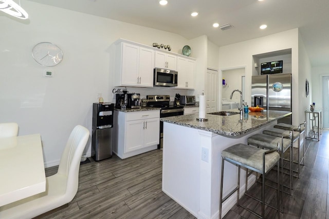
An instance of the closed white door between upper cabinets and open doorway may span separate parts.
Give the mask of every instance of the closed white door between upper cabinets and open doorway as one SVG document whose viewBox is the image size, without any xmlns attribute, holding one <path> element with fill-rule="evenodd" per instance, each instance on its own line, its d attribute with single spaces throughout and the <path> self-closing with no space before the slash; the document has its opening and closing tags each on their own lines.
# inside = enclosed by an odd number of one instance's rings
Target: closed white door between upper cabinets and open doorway
<svg viewBox="0 0 329 219">
<path fill-rule="evenodd" d="M 218 71 L 207 69 L 206 113 L 216 112 L 218 106 Z"/>
</svg>

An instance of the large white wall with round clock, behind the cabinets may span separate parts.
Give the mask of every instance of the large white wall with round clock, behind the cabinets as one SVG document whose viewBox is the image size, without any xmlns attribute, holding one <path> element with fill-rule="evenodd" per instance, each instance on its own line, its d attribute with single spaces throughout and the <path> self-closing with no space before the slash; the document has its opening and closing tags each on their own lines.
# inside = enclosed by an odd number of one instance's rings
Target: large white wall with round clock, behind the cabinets
<svg viewBox="0 0 329 219">
<path fill-rule="evenodd" d="M 127 24 L 22 0 L 29 19 L 1 13 L 0 122 L 17 122 L 19 135 L 41 133 L 46 167 L 57 165 L 74 126 L 92 129 L 92 103 L 97 93 L 113 101 L 109 47 L 118 38 L 152 45 L 171 45 L 181 54 L 186 38 L 156 29 Z M 57 44 L 64 52 L 55 67 L 37 64 L 31 50 L 40 42 Z M 192 56 L 193 57 L 193 56 Z M 54 72 L 44 77 L 44 70 Z M 129 88 L 148 94 L 187 94 L 184 90 Z M 87 155 L 90 155 L 90 141 Z M 27 157 L 27 159 L 32 157 Z"/>
</svg>

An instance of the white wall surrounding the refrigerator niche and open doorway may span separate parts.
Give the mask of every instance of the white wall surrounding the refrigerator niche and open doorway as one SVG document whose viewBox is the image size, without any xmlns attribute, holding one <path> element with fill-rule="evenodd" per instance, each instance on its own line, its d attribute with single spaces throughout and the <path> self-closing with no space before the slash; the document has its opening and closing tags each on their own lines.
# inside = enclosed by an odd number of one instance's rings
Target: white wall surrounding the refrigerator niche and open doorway
<svg viewBox="0 0 329 219">
<path fill-rule="evenodd" d="M 253 60 L 252 55 L 268 53 L 272 51 L 291 49 L 291 73 L 293 75 L 293 124 L 300 121 L 299 109 L 299 79 L 298 79 L 298 29 L 288 30 L 260 38 L 251 39 L 241 43 L 220 47 L 220 69 L 231 69 L 245 66 L 246 71 L 246 96 L 251 96 L 251 75 Z M 304 86 L 304 85 L 303 85 Z M 248 105 L 251 100 L 247 99 Z"/>
</svg>

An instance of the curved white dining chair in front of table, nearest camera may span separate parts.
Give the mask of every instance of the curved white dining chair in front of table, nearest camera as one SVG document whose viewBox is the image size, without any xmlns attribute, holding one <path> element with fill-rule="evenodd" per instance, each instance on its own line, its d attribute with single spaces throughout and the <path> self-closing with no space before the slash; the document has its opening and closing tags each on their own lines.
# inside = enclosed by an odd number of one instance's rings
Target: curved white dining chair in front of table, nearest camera
<svg viewBox="0 0 329 219">
<path fill-rule="evenodd" d="M 66 143 L 58 172 L 46 177 L 46 191 L 0 207 L 0 218 L 33 218 L 67 205 L 78 191 L 79 167 L 89 131 L 76 126 Z"/>
</svg>

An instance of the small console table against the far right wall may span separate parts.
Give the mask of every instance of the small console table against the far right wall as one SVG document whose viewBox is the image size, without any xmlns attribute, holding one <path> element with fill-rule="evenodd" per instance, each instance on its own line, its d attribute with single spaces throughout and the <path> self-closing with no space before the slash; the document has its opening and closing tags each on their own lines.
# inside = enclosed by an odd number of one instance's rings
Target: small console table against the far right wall
<svg viewBox="0 0 329 219">
<path fill-rule="evenodd" d="M 305 110 L 306 138 L 314 138 L 320 141 L 320 135 L 322 134 L 321 116 L 321 110 Z M 307 134 L 307 130 L 309 134 Z"/>
</svg>

